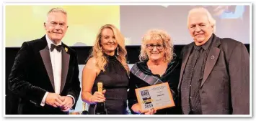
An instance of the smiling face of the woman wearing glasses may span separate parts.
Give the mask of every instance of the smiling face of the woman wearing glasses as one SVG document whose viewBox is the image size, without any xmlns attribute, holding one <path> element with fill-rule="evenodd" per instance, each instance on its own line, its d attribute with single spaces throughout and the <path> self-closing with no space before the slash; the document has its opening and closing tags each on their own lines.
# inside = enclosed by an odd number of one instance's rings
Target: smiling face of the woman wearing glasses
<svg viewBox="0 0 256 121">
<path fill-rule="evenodd" d="M 164 61 L 164 47 L 160 40 L 149 40 L 146 42 L 146 54 L 151 61 Z"/>
</svg>

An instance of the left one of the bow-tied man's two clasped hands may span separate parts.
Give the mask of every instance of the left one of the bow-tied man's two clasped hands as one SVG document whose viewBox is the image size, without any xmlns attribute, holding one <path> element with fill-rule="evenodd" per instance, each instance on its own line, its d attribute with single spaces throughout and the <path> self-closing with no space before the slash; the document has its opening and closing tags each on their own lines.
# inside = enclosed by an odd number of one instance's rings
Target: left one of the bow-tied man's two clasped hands
<svg viewBox="0 0 256 121">
<path fill-rule="evenodd" d="M 64 98 L 56 93 L 49 93 L 45 99 L 45 103 L 47 105 L 51 105 L 53 107 L 62 107 Z"/>
</svg>

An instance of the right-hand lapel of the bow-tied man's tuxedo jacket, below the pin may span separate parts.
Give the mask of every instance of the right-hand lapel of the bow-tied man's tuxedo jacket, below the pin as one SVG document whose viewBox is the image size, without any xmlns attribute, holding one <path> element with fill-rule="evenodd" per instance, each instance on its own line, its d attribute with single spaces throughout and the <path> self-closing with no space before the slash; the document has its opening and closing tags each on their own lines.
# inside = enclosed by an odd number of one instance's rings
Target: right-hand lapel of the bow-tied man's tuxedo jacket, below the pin
<svg viewBox="0 0 256 121">
<path fill-rule="evenodd" d="M 66 84 L 66 77 L 68 75 L 70 55 L 66 52 L 64 47 L 62 47 L 62 49 L 61 49 L 61 54 L 62 54 L 61 92 L 62 92 L 62 90 Z"/>
</svg>

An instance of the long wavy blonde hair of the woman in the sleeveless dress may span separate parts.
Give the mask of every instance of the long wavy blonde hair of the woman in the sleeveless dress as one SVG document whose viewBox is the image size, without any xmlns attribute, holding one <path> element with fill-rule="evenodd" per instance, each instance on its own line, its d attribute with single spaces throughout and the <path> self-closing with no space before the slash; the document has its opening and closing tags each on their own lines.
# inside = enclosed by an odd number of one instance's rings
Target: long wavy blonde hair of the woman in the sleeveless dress
<svg viewBox="0 0 256 121">
<path fill-rule="evenodd" d="M 105 72 L 105 66 L 107 64 L 107 58 L 104 56 L 104 52 L 102 52 L 102 47 L 100 45 L 100 40 L 101 40 L 101 34 L 103 29 L 111 29 L 112 32 L 115 35 L 115 39 L 118 42 L 118 47 L 119 49 L 116 49 L 118 51 L 118 55 L 116 55 L 118 61 L 123 65 L 125 68 L 127 74 L 129 74 L 129 67 L 126 62 L 126 49 L 125 49 L 125 38 L 121 34 L 121 32 L 112 24 L 105 24 L 100 28 L 100 31 L 97 34 L 96 42 L 94 43 L 94 46 L 92 47 L 92 52 L 89 56 L 90 57 L 95 57 L 96 58 L 96 66 L 100 68 L 103 72 Z"/>
</svg>

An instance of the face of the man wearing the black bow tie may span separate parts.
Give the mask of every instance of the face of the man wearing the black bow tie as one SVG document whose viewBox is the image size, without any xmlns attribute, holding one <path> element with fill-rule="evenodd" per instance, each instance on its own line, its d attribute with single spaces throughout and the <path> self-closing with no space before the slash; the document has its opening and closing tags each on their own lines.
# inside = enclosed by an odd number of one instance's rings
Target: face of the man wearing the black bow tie
<svg viewBox="0 0 256 121">
<path fill-rule="evenodd" d="M 61 11 L 51 12 L 48 14 L 47 21 L 44 24 L 46 34 L 49 39 L 55 44 L 61 42 L 61 39 L 66 34 L 67 26 L 67 16 Z"/>
</svg>

